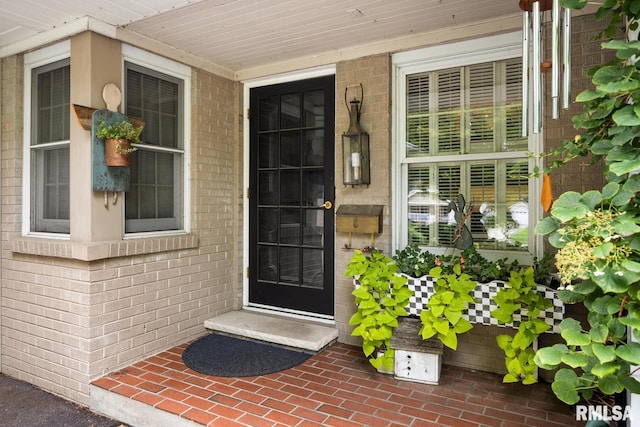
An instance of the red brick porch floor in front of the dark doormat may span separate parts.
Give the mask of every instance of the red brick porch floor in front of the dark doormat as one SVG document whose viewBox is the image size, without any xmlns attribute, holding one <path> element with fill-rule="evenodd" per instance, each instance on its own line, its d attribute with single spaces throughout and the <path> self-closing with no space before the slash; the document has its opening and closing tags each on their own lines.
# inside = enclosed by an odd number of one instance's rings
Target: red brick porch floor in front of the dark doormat
<svg viewBox="0 0 640 427">
<path fill-rule="evenodd" d="M 180 345 L 93 385 L 207 426 L 572 426 L 549 385 L 443 365 L 440 385 L 376 372 L 357 347 L 335 343 L 305 363 L 249 378 L 202 375 Z M 126 420 L 123 420 L 126 421 Z"/>
</svg>

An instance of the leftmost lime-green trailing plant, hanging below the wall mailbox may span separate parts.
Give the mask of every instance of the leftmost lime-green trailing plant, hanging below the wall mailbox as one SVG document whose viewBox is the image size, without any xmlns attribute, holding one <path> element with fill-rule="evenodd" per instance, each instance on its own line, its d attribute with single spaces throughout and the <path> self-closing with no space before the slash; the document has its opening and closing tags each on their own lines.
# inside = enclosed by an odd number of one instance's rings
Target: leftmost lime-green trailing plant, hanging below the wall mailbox
<svg viewBox="0 0 640 427">
<path fill-rule="evenodd" d="M 377 250 L 370 255 L 354 252 L 345 276 L 353 276 L 358 286 L 353 291 L 357 311 L 349 319 L 355 326 L 351 335 L 362 337 L 362 350 L 376 368 L 393 369 L 391 348 L 393 329 L 398 317 L 406 316 L 405 307 L 413 295 L 406 286 L 407 278 L 396 274 L 395 262 Z"/>
</svg>

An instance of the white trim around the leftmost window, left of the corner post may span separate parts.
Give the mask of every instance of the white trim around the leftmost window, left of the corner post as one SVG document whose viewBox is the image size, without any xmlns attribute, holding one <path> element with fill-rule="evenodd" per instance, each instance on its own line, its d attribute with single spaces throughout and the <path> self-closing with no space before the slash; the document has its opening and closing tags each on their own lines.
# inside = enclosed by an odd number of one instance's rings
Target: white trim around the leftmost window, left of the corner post
<svg viewBox="0 0 640 427">
<path fill-rule="evenodd" d="M 22 235 L 69 240 L 68 233 L 31 231 L 31 88 L 32 71 L 43 65 L 71 57 L 71 41 L 65 40 L 24 55 L 23 163 L 22 163 Z"/>
</svg>

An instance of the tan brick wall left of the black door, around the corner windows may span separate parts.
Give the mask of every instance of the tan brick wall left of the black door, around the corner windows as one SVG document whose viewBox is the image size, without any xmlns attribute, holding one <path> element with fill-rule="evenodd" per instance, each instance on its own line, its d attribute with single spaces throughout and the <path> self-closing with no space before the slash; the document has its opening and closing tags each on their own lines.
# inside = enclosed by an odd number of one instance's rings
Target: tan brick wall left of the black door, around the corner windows
<svg viewBox="0 0 640 427">
<path fill-rule="evenodd" d="M 206 319 L 240 308 L 239 88 L 193 71 L 193 236 L 178 239 L 188 244 L 130 240 L 114 253 L 135 255 L 80 261 L 67 257 L 68 242 L 41 244 L 60 256 L 12 250 L 21 228 L 22 73 L 21 57 L 2 60 L 2 371 L 88 404 L 91 379 L 196 338 Z"/>
</svg>

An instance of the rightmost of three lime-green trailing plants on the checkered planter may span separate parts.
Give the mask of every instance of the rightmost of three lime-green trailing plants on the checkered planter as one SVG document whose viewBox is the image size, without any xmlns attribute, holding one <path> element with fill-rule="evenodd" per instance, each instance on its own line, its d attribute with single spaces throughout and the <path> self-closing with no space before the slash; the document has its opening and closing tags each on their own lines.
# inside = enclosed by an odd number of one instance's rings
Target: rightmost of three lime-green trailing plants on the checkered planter
<svg viewBox="0 0 640 427">
<path fill-rule="evenodd" d="M 549 330 L 550 326 L 544 321 L 542 312 L 553 305 L 544 294 L 538 292 L 537 287 L 534 270 L 529 267 L 512 271 L 507 287 L 500 289 L 494 297 L 498 308 L 491 312 L 491 316 L 499 323 L 512 323 L 516 312 L 521 315 L 520 325 L 513 336 L 501 334 L 496 337 L 498 347 L 505 354 L 507 374 L 503 382 L 537 382 L 534 343 Z"/>
</svg>

